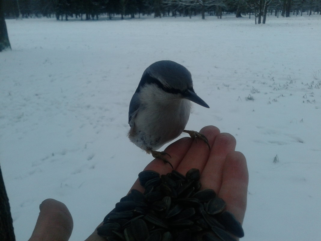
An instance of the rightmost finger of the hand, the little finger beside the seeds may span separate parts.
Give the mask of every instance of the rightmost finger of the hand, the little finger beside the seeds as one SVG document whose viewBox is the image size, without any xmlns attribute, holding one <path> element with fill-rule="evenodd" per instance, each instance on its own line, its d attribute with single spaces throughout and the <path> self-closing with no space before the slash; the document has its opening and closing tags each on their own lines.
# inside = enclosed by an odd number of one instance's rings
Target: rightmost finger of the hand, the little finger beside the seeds
<svg viewBox="0 0 321 241">
<path fill-rule="evenodd" d="M 245 156 L 240 152 L 230 152 L 223 168 L 222 185 L 218 193 L 225 202 L 226 209 L 242 223 L 247 202 L 248 171 Z"/>
</svg>

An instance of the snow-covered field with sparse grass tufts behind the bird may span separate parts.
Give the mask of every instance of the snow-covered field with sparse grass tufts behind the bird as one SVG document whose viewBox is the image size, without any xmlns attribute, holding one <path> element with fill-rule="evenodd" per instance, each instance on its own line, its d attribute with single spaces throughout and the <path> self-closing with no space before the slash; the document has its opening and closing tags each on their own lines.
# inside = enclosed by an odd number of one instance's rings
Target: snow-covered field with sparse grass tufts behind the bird
<svg viewBox="0 0 321 241">
<path fill-rule="evenodd" d="M 187 67 L 210 106 L 187 129 L 216 125 L 247 157 L 241 240 L 320 240 L 320 15 L 6 23 L 0 162 L 18 241 L 46 198 L 67 205 L 79 241 L 126 195 L 152 160 L 126 137 L 129 101 L 162 59 Z"/>
</svg>

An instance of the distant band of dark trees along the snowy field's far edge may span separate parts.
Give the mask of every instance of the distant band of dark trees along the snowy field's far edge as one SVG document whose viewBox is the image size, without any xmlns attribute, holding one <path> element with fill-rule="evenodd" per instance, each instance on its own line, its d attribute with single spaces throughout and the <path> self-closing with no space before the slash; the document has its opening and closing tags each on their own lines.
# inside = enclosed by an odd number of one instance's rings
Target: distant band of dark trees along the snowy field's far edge
<svg viewBox="0 0 321 241">
<path fill-rule="evenodd" d="M 222 17 L 234 13 L 247 15 L 265 23 L 267 14 L 290 17 L 302 14 L 321 14 L 321 0 L 3 0 L 6 18 L 56 17 L 57 20 L 79 18 L 94 20 L 100 16 L 140 18 L 205 14 Z M 262 18 L 262 19 L 261 19 Z"/>
</svg>

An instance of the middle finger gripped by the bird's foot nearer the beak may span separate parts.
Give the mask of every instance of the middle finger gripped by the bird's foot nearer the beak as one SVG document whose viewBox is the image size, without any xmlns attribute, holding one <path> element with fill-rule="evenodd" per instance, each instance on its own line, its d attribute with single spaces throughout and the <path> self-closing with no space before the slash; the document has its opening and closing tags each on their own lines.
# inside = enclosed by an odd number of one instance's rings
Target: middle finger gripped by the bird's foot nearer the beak
<svg viewBox="0 0 321 241">
<path fill-rule="evenodd" d="M 214 140 L 216 136 L 220 134 L 220 130 L 215 126 L 205 126 L 200 130 L 200 133 L 203 134 L 212 149 Z M 185 175 L 187 171 L 191 168 L 197 168 L 202 173 L 204 166 L 208 160 L 210 150 L 208 146 L 202 140 L 193 140 L 191 147 L 188 149 L 183 160 L 180 162 L 177 167 L 177 171 Z"/>
</svg>

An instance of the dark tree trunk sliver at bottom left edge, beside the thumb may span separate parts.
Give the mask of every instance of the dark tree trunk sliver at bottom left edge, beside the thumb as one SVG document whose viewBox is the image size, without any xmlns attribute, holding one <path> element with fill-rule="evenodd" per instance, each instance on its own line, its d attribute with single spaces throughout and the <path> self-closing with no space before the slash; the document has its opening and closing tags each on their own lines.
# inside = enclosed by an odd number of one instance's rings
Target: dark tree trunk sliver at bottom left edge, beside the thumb
<svg viewBox="0 0 321 241">
<path fill-rule="evenodd" d="M 9 199 L 0 167 L 0 240 L 15 241 Z"/>
</svg>

